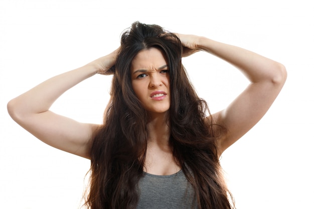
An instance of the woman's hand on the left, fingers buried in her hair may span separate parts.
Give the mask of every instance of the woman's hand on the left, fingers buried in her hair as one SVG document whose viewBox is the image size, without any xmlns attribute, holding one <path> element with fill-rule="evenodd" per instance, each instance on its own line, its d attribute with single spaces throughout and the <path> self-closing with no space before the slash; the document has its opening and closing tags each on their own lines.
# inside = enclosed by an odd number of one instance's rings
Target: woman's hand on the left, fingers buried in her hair
<svg viewBox="0 0 314 209">
<path fill-rule="evenodd" d="M 100 57 L 97 60 L 89 63 L 88 65 L 93 65 L 97 69 L 98 74 L 102 75 L 112 75 L 114 70 L 112 67 L 115 65 L 117 55 L 120 51 L 120 48 L 111 52 L 110 54 Z"/>
</svg>

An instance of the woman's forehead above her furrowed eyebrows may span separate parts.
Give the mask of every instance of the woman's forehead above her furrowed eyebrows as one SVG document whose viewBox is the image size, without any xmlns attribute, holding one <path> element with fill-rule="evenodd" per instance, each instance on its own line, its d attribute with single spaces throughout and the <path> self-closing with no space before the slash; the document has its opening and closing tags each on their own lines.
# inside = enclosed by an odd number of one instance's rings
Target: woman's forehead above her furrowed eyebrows
<svg viewBox="0 0 314 209">
<path fill-rule="evenodd" d="M 131 71 L 143 69 L 153 70 L 167 65 L 164 53 L 157 48 L 140 51 L 132 60 Z"/>
</svg>

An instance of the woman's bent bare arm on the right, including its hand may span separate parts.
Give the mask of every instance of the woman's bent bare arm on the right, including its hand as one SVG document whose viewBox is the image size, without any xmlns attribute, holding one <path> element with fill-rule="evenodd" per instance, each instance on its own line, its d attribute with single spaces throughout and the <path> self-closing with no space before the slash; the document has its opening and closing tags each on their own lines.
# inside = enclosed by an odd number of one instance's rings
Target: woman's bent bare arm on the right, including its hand
<svg viewBox="0 0 314 209">
<path fill-rule="evenodd" d="M 285 67 L 248 50 L 205 37 L 181 35 L 184 55 L 205 51 L 236 66 L 249 79 L 248 87 L 224 110 L 213 114 L 228 131 L 219 139 L 221 153 L 249 131 L 266 113 L 285 80 Z M 223 81 L 222 81 L 223 82 Z"/>
</svg>

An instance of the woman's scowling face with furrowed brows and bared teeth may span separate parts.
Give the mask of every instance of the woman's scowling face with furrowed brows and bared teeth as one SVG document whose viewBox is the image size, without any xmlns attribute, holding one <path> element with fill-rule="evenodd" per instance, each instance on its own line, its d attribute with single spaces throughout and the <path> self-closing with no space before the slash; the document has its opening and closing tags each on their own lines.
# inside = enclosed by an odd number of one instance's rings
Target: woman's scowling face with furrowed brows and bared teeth
<svg viewBox="0 0 314 209">
<path fill-rule="evenodd" d="M 156 48 L 140 51 L 132 60 L 132 88 L 149 113 L 165 113 L 170 108 L 168 65 Z"/>
</svg>

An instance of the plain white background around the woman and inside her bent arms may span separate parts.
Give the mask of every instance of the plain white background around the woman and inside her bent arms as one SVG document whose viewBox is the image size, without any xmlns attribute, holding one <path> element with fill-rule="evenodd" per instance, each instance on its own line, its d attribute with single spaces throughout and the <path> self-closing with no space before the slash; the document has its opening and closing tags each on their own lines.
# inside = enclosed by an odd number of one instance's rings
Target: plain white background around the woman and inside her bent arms
<svg viewBox="0 0 314 209">
<path fill-rule="evenodd" d="M 206 36 L 281 62 L 288 79 L 262 120 L 225 151 L 222 165 L 239 209 L 313 206 L 313 7 L 310 1 L 0 2 L 0 208 L 78 208 L 89 161 L 52 148 L 16 124 L 8 101 L 119 46 L 132 22 Z M 216 112 L 247 85 L 204 52 L 184 59 L 200 97 Z M 52 110 L 101 123 L 110 76 L 66 92 Z"/>
</svg>

